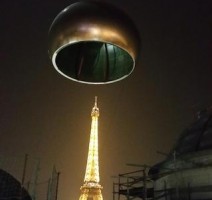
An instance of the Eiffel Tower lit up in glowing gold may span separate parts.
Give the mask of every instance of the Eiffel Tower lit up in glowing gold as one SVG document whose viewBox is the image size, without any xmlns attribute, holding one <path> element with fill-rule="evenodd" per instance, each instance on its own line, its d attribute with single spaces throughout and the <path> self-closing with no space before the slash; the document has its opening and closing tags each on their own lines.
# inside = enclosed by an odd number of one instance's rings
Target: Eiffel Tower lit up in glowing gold
<svg viewBox="0 0 212 200">
<path fill-rule="evenodd" d="M 98 117 L 97 97 L 91 111 L 91 132 L 88 150 L 87 166 L 85 171 L 84 184 L 81 186 L 79 200 L 103 200 L 102 186 L 99 184 L 99 158 L 98 158 Z"/>
</svg>

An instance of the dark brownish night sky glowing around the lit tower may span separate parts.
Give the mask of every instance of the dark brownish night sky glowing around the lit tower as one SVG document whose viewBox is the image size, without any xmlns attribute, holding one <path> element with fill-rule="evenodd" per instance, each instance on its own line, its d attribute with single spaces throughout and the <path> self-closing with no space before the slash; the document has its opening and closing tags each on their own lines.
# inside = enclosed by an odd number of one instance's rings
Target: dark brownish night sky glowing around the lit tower
<svg viewBox="0 0 212 200">
<path fill-rule="evenodd" d="M 48 58 L 48 29 L 74 2 L 0 2 L 0 153 L 40 157 L 43 176 L 56 164 L 59 200 L 78 199 L 98 96 L 101 184 L 112 199 L 111 176 L 162 161 L 157 151 L 212 105 L 212 1 L 108 0 L 135 22 L 142 50 L 127 79 L 97 86 L 64 78 Z"/>
</svg>

